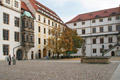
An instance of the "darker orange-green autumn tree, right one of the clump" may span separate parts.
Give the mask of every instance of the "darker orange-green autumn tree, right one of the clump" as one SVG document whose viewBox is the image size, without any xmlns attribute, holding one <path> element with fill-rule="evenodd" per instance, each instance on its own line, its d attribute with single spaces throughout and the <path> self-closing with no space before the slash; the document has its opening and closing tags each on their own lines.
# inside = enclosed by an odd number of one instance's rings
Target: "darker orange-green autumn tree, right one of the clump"
<svg viewBox="0 0 120 80">
<path fill-rule="evenodd" d="M 83 39 L 78 36 L 76 30 L 66 28 L 62 33 L 61 39 L 61 48 L 64 48 L 65 52 L 70 51 L 72 53 L 77 52 L 77 48 L 81 48 Z"/>
</svg>

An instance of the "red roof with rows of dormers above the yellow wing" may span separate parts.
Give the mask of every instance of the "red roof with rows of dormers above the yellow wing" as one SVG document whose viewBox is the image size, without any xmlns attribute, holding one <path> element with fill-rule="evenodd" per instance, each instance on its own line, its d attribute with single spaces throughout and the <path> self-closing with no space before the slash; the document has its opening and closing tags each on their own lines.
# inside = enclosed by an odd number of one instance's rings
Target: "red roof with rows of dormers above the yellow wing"
<svg viewBox="0 0 120 80">
<path fill-rule="evenodd" d="M 60 17 L 59 17 L 54 11 L 52 11 L 52 10 L 49 9 L 49 8 L 47 8 L 47 7 L 44 6 L 43 4 L 39 3 L 39 2 L 36 1 L 36 0 L 29 0 L 29 1 L 30 1 L 30 3 L 32 4 L 32 6 L 34 7 L 34 9 L 35 9 L 36 11 L 38 11 L 38 9 L 39 9 L 39 10 L 42 10 L 42 11 L 44 11 L 45 13 L 47 13 L 47 14 L 55 17 L 55 18 L 58 19 L 59 21 L 63 22 L 63 21 L 60 19 Z M 37 5 L 36 5 L 36 4 L 37 4 Z M 39 7 L 39 6 L 40 6 L 40 7 Z M 44 8 L 44 9 L 43 9 L 43 8 Z"/>
</svg>

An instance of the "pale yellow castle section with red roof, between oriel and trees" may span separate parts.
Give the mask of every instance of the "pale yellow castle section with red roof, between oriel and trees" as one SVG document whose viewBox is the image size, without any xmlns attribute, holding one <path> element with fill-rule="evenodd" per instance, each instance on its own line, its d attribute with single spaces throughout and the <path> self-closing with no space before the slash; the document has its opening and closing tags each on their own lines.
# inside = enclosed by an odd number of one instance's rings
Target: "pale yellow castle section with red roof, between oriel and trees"
<svg viewBox="0 0 120 80">
<path fill-rule="evenodd" d="M 51 57 L 53 52 L 47 50 L 47 40 L 50 38 L 53 27 L 64 27 L 63 21 L 51 9 L 36 0 L 22 0 L 32 14 L 35 16 L 34 22 L 34 58 L 40 59 L 46 56 Z"/>
</svg>

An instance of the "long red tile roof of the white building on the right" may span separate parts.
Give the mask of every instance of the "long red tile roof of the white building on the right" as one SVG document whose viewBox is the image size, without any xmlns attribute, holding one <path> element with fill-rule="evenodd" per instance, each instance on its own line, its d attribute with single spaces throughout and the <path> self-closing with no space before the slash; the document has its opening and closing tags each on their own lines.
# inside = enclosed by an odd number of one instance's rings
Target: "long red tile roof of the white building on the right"
<svg viewBox="0 0 120 80">
<path fill-rule="evenodd" d="M 100 11 L 95 11 L 95 12 L 90 12 L 90 13 L 85 13 L 85 14 L 79 14 L 72 20 L 68 21 L 66 24 L 90 20 L 90 19 L 96 19 L 96 18 L 104 18 L 104 17 L 119 15 L 119 14 L 120 14 L 120 7 L 106 9 L 106 10 L 100 10 Z"/>
</svg>

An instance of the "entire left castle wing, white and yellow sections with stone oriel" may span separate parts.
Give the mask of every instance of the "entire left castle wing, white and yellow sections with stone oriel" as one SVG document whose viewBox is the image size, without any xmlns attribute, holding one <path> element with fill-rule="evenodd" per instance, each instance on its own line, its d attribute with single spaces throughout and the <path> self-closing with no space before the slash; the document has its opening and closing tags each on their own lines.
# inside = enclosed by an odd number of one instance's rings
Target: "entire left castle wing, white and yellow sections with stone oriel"
<svg viewBox="0 0 120 80">
<path fill-rule="evenodd" d="M 51 29 L 65 25 L 51 9 L 36 0 L 0 0 L 0 60 L 51 57 L 47 49 Z"/>
</svg>

